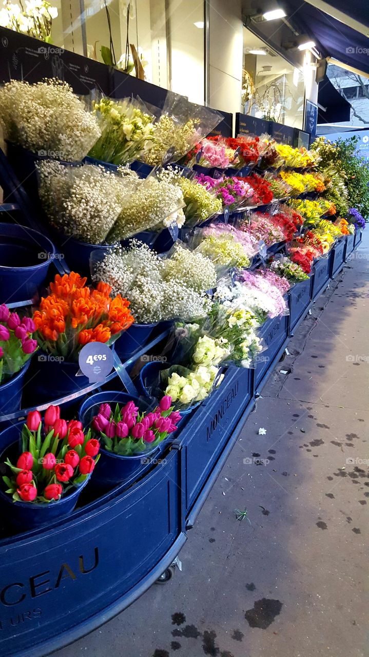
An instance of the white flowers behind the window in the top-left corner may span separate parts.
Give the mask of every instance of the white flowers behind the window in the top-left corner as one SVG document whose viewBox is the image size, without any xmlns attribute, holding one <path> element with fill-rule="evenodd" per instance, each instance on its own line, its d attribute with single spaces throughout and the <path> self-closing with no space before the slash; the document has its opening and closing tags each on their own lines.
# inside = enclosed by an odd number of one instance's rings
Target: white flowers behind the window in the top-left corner
<svg viewBox="0 0 369 657">
<path fill-rule="evenodd" d="M 0 25 L 51 43 L 53 18 L 57 16 L 58 9 L 47 0 L 25 0 L 20 6 L 5 0 L 0 9 Z"/>
</svg>

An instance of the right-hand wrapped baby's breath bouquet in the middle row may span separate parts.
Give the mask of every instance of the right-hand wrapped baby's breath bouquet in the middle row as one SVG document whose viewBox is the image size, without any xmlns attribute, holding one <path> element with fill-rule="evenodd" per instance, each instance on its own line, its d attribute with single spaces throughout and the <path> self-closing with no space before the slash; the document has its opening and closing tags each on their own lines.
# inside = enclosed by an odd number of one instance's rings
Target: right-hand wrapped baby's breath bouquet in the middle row
<svg viewBox="0 0 369 657">
<path fill-rule="evenodd" d="M 141 185 L 125 196 L 121 211 L 108 233 L 108 242 L 125 240 L 142 231 L 161 232 L 165 228 L 185 223 L 185 200 L 178 185 L 160 179 L 160 171 L 153 170 Z"/>
</svg>

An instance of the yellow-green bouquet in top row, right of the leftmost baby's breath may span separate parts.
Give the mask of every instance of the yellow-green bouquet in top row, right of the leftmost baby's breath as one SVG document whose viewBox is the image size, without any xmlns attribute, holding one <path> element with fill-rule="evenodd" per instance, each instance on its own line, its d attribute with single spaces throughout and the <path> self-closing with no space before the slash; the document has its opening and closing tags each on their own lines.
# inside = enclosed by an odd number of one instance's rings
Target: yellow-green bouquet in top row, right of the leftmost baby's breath
<svg viewBox="0 0 369 657">
<path fill-rule="evenodd" d="M 112 164 L 127 164 L 138 160 L 152 146 L 153 116 L 144 112 L 138 101 L 102 98 L 93 102 L 93 113 L 101 137 L 89 156 Z"/>
</svg>

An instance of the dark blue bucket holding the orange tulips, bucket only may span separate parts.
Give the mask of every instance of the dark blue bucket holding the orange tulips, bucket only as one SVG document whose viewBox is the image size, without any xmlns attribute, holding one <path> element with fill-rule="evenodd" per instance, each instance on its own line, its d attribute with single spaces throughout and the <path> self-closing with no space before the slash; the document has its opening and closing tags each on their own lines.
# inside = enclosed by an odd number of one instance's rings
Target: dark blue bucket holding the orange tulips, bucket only
<svg viewBox="0 0 369 657">
<path fill-rule="evenodd" d="M 89 385 L 87 376 L 76 376 L 78 363 L 51 360 L 53 356 L 37 351 L 24 381 L 24 396 L 29 406 L 37 406 L 70 395 Z"/>
</svg>

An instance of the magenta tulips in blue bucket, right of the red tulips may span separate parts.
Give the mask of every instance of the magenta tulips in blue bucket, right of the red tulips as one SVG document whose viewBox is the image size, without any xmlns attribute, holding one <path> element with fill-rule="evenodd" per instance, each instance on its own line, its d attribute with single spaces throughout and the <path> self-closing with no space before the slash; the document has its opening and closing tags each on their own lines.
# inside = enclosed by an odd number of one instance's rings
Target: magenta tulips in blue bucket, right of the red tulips
<svg viewBox="0 0 369 657">
<path fill-rule="evenodd" d="M 91 435 L 101 443 L 101 462 L 93 482 L 117 486 L 138 473 L 160 443 L 173 433 L 180 419 L 173 411 L 171 397 L 164 396 L 154 411 L 139 412 L 134 401 L 113 410 L 102 403 L 90 425 Z"/>
</svg>

